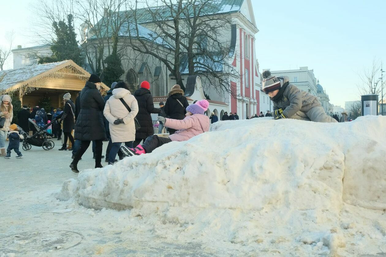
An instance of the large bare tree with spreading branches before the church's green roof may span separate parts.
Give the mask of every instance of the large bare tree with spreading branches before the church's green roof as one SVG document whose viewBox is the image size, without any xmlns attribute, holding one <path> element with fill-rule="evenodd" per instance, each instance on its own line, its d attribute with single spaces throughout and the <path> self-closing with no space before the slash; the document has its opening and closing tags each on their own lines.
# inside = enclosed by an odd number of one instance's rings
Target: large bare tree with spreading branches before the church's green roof
<svg viewBox="0 0 386 257">
<path fill-rule="evenodd" d="M 229 42 L 223 31 L 232 23 L 229 15 L 217 14 L 212 0 L 160 0 L 161 6 L 139 8 L 137 0 L 129 12 L 129 46 L 160 60 L 184 88 L 181 63 L 189 75 L 200 74 L 219 93 L 229 92 L 230 80 L 239 77 L 229 62 Z M 143 37 L 143 26 L 152 31 Z M 229 30 L 228 30 L 229 31 Z M 139 43 L 139 44 L 138 44 Z"/>
</svg>

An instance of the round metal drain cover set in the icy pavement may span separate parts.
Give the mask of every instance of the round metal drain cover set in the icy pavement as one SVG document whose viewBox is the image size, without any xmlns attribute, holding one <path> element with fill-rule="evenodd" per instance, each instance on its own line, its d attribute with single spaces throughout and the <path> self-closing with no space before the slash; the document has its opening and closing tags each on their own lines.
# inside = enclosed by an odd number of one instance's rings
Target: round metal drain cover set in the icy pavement
<svg viewBox="0 0 386 257">
<path fill-rule="evenodd" d="M 0 239 L 0 252 L 64 250 L 85 239 L 82 234 L 67 230 L 30 231 Z"/>
</svg>

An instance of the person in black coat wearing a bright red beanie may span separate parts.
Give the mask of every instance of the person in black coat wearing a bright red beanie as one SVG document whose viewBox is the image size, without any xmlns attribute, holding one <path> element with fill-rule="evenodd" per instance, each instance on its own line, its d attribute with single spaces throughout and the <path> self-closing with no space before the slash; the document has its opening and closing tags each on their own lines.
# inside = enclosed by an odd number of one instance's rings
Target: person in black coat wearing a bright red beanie
<svg viewBox="0 0 386 257">
<path fill-rule="evenodd" d="M 153 121 L 151 113 L 161 113 L 161 109 L 154 108 L 153 97 L 150 94 L 150 84 L 147 81 L 141 83 L 141 88 L 134 92 L 134 97 L 138 102 L 137 119 L 141 128 L 135 132 L 135 141 L 133 146 L 136 147 L 142 140 L 154 134 Z"/>
</svg>

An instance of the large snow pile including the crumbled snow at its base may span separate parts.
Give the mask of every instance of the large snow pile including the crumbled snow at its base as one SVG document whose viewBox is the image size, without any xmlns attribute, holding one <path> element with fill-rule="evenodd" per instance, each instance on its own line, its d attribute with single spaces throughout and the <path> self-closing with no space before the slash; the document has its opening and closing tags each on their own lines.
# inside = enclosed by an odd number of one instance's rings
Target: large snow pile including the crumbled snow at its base
<svg viewBox="0 0 386 257">
<path fill-rule="evenodd" d="M 267 256 L 382 252 L 385 128 L 386 117 L 375 116 L 218 122 L 189 141 L 81 171 L 58 197 L 174 224 L 162 233 L 178 240 L 232 242 Z"/>
</svg>

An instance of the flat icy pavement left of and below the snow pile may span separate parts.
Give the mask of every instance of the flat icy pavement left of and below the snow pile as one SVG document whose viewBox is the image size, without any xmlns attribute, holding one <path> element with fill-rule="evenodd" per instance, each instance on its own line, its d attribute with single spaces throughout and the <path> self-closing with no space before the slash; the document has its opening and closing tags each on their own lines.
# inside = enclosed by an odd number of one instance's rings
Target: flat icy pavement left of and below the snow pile
<svg viewBox="0 0 386 257">
<path fill-rule="evenodd" d="M 105 152 L 107 142 L 103 146 Z M 0 257 L 238 255 L 237 249 L 227 254 L 210 245 L 166 240 L 154 234 L 157 226 L 130 217 L 129 210 L 92 210 L 57 200 L 63 181 L 78 176 L 68 167 L 71 152 L 59 147 L 32 146 L 22 159 L 14 153 L 0 158 Z M 90 147 L 78 167 L 93 165 Z"/>
</svg>

